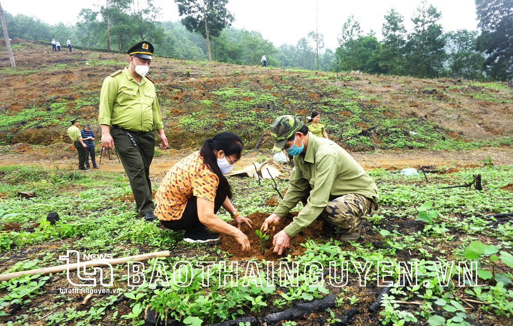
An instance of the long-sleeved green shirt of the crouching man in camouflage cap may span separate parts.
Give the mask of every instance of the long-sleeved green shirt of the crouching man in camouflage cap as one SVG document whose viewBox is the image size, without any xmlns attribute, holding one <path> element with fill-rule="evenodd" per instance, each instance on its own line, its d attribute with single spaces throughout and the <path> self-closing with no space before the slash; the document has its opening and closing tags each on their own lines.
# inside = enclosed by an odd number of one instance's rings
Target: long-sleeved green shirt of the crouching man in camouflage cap
<svg viewBox="0 0 513 326">
<path fill-rule="evenodd" d="M 378 203 L 378 187 L 364 169 L 339 145 L 308 133 L 306 153 L 294 156 L 287 194 L 274 210 L 283 218 L 304 197 L 308 186 L 310 197 L 305 208 L 285 227 L 293 237 L 310 225 L 326 208 L 329 196 L 356 193 Z"/>
</svg>

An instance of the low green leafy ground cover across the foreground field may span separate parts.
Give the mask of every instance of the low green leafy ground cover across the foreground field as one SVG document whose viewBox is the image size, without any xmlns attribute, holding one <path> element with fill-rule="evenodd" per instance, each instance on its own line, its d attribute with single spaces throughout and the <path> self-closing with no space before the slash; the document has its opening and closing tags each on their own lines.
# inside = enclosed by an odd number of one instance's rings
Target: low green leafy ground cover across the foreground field
<svg viewBox="0 0 513 326">
<path fill-rule="evenodd" d="M 150 267 L 157 261 L 170 266 L 177 261 L 187 261 L 193 266 L 193 274 L 199 275 L 202 270 L 195 265 L 196 262 L 220 262 L 227 259 L 226 254 L 216 247 L 195 248 L 184 245 L 180 243 L 180 232 L 162 229 L 158 227 L 159 223 L 148 223 L 137 218 L 134 204 L 122 199 L 124 194 L 130 193 L 123 175 L 97 172 L 55 171 L 25 165 L 4 166 L 0 169 L 0 192 L 7 193 L 1 201 L 3 211 L 0 212 L 0 220 L 4 225 L 13 222 L 22 225 L 18 231 L 6 231 L 0 227 L 0 272 L 61 264 L 58 256 L 63 250 L 71 248 L 87 253 L 109 253 L 114 257 L 167 248 L 172 250 L 171 257 L 146 263 L 144 275 L 147 279 L 151 277 Z M 428 184 L 421 174 L 404 176 L 384 169 L 373 169 L 368 174 L 377 182 L 381 200 L 377 214 L 367 219 L 365 239 L 382 241 L 386 248 L 374 248 L 367 240 L 343 244 L 334 235 L 331 239 L 320 235 L 303 244 L 306 251 L 302 255 L 295 258 L 289 256 L 284 260 L 294 260 L 300 264 L 315 260 L 324 266 L 329 266 L 330 261 L 340 263 L 341 260 L 373 262 L 365 277 L 366 287 L 351 285 L 354 281 L 358 282 L 358 274 L 351 264 L 348 272 L 352 281 L 343 287 L 335 287 L 327 281 L 322 286 L 305 286 L 300 282 L 298 287 L 280 287 L 279 283 L 264 287 L 255 287 L 252 283 L 220 287 L 219 277 L 227 272 L 216 264 L 208 274 L 208 287 L 201 286 L 201 282 L 193 282 L 187 287 L 159 289 L 155 285 L 145 285 L 129 289 L 124 285 L 127 280 L 124 273 L 126 267 L 118 265 L 114 266 L 114 289 L 121 288 L 128 298 L 125 302 L 115 303 L 118 295 L 106 294 L 97 296 L 85 306 L 76 305 L 68 299 L 72 297 L 49 292 L 54 291 L 56 286 L 66 287 L 60 281 L 66 282 L 66 276 L 59 273 L 21 277 L 0 283 L 0 306 L 21 303 L 23 313 L 11 317 L 13 325 L 23 325 L 25 322 L 30 324 L 38 319 L 49 325 L 86 325 L 101 320 L 111 320 L 116 324 L 142 324 L 143 310 L 148 304 L 158 313 L 169 314 L 169 318 L 210 323 L 251 314 L 263 316 L 271 309 L 283 310 L 295 301 L 312 300 L 332 293 L 337 297 L 337 306 L 331 310 L 332 315 L 329 312 L 321 315 L 325 318 L 339 318 L 353 305 L 366 306 L 373 302 L 375 294 L 369 297 L 364 294 L 372 289 L 373 283 L 378 282 L 378 261 L 397 266 L 400 260 L 407 260 L 417 261 L 419 284 L 427 282 L 429 285 L 404 287 L 392 282 L 391 292 L 381 301 L 379 317 L 372 316 L 373 319 L 381 318 L 385 324 L 401 324 L 401 320 L 430 320 L 433 323 L 443 318 L 444 322 L 451 320 L 452 324 L 472 324 L 478 315 L 462 310 L 461 306 L 465 303 L 455 296 L 463 292 L 467 298 L 486 302 L 476 304 L 480 306 L 485 318 L 491 322 L 504 323 L 513 314 L 513 291 L 510 290 L 510 279 L 513 276 L 506 265 L 510 263 L 508 253 L 512 252 L 513 247 L 513 225 L 507 220 L 482 216 L 513 210 L 511 193 L 500 189 L 513 178 L 513 166 L 489 165 L 465 168 L 445 175 L 429 174 Z M 474 174 L 482 175 L 483 191 L 467 188 L 439 189 L 441 186 L 468 182 Z M 265 205 L 268 198 L 278 197 L 272 188 L 272 181 L 264 180 L 259 185 L 255 179 L 231 177 L 229 182 L 234 193 L 232 202 L 243 215 L 257 210 L 272 212 L 273 208 Z M 278 180 L 280 190 L 286 189 L 287 185 L 286 181 Z M 14 198 L 15 190 L 30 189 L 37 191 L 36 198 Z M 432 223 L 416 221 L 418 208 L 425 206 L 423 203 L 426 201 L 432 203 L 428 209 L 437 212 L 438 218 Z M 301 205 L 295 209 L 301 209 Z M 46 215 L 50 212 L 58 212 L 62 220 L 55 227 L 46 221 Z M 219 215 L 229 219 L 229 214 L 223 209 Z M 442 265 L 449 260 L 470 262 L 472 259 L 467 258 L 467 255 L 470 255 L 473 246 L 479 247 L 479 243 L 472 242 L 476 239 L 490 246 L 490 250 L 499 257 L 498 260 L 492 260 L 495 258 L 490 254 L 481 253 L 478 258 L 473 258 L 480 262 L 479 269 L 482 272 L 479 274 L 484 278 L 480 278 L 479 282 L 483 286 L 479 290 L 464 287 L 459 292 L 458 288 L 452 286 L 439 286 L 437 273 L 431 269 L 433 262 L 441 261 Z M 36 250 L 25 251 L 22 248 Z M 408 256 L 408 252 L 413 258 Z M 263 262 L 255 263 L 263 268 Z M 242 262 L 243 266 L 245 264 L 247 262 Z M 275 281 L 278 282 L 278 270 L 275 273 Z M 389 279 L 399 279 L 397 269 L 391 270 Z M 453 275 L 453 282 L 457 283 L 457 275 Z M 24 299 L 17 299 L 21 297 Z M 420 301 L 422 304 L 409 306 L 406 310 L 396 303 L 397 300 Z M 169 305 L 173 307 L 172 310 L 168 309 Z M 0 318 L 5 316 L 2 312 L 4 310 L 0 310 Z M 184 316 L 181 312 L 188 313 Z M 364 313 L 359 316 L 362 320 L 371 317 Z"/>
</svg>

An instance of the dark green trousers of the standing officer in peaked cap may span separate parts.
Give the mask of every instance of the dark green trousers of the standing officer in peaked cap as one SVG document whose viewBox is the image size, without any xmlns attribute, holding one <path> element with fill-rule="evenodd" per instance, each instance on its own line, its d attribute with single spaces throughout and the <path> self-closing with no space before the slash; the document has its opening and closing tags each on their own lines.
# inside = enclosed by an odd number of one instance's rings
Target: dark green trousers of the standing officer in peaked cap
<svg viewBox="0 0 513 326">
<path fill-rule="evenodd" d="M 130 180 L 137 213 L 144 216 L 155 209 L 155 204 L 151 199 L 150 181 L 150 164 L 155 152 L 155 136 L 151 130 L 142 133 L 132 131 L 130 135 L 137 144 L 134 145 L 122 129 L 110 128 L 110 135 L 114 140 L 114 147 L 123 163 L 128 180 Z"/>
</svg>

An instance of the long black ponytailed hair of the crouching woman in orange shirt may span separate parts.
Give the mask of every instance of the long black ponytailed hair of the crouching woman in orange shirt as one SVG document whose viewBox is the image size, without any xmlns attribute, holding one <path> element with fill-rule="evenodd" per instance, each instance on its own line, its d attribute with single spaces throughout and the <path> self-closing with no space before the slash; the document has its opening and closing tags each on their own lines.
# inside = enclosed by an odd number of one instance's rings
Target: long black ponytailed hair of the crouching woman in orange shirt
<svg viewBox="0 0 513 326">
<path fill-rule="evenodd" d="M 203 163 L 206 164 L 219 178 L 219 186 L 227 189 L 227 196 L 231 199 L 231 187 L 225 176 L 221 173 L 218 166 L 218 159 L 214 155 L 214 150 L 224 151 L 225 156 L 235 154 L 237 160 L 241 158 L 244 144 L 242 139 L 235 132 L 223 131 L 212 138 L 203 141 L 200 155 L 203 157 Z"/>
</svg>

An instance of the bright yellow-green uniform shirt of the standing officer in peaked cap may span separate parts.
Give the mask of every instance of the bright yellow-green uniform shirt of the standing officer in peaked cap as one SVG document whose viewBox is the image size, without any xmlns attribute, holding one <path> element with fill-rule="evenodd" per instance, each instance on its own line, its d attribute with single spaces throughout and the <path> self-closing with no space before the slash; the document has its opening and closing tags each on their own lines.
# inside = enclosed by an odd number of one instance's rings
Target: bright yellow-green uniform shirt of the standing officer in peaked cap
<svg viewBox="0 0 513 326">
<path fill-rule="evenodd" d="M 118 125 L 132 131 L 163 129 L 153 83 L 143 77 L 141 85 L 137 84 L 128 68 L 108 76 L 100 93 L 98 123 Z"/>
</svg>

